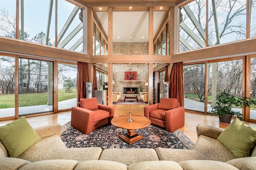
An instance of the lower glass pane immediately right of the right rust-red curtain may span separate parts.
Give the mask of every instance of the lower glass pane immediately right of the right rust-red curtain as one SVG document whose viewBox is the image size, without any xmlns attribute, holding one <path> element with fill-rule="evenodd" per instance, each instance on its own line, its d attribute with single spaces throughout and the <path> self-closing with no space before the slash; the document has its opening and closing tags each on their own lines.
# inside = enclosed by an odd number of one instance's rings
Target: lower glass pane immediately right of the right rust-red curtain
<svg viewBox="0 0 256 170">
<path fill-rule="evenodd" d="M 185 109 L 204 112 L 205 64 L 183 66 L 183 76 Z"/>
</svg>

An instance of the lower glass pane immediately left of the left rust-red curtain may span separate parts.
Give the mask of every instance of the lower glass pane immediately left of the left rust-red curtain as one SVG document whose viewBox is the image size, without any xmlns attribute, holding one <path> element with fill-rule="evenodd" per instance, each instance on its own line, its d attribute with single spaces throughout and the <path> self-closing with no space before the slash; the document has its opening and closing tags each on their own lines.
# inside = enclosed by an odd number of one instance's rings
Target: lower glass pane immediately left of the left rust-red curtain
<svg viewBox="0 0 256 170">
<path fill-rule="evenodd" d="M 58 110 L 76 106 L 77 65 L 58 63 Z"/>
</svg>

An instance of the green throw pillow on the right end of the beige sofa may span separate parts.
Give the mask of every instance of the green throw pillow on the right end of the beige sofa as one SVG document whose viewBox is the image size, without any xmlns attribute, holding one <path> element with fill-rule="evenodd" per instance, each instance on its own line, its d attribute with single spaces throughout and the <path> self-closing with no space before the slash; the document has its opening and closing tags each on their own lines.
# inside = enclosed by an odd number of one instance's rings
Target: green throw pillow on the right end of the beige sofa
<svg viewBox="0 0 256 170">
<path fill-rule="evenodd" d="M 256 129 L 234 119 L 217 138 L 236 158 L 247 156 L 256 143 Z"/>
</svg>

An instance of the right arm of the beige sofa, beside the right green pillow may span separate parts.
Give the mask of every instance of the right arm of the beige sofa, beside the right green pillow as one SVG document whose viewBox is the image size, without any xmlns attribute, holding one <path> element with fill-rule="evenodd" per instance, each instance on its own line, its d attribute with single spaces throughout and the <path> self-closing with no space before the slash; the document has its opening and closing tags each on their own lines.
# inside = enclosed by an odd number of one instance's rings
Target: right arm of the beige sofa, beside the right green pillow
<svg viewBox="0 0 256 170">
<path fill-rule="evenodd" d="M 218 127 L 212 127 L 208 125 L 198 124 L 196 126 L 197 137 L 199 137 L 200 135 L 204 135 L 212 139 L 217 139 L 220 133 L 222 133 L 222 131 L 224 131 L 224 129 L 220 129 Z"/>
</svg>

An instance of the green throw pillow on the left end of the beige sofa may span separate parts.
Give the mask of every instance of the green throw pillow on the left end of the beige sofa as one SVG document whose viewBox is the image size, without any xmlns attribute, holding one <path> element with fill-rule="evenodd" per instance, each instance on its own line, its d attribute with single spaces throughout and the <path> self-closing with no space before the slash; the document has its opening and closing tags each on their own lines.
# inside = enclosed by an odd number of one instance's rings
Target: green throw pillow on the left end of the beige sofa
<svg viewBox="0 0 256 170">
<path fill-rule="evenodd" d="M 0 140 L 6 147 L 9 157 L 17 158 L 40 139 L 25 117 L 0 127 Z"/>
</svg>

